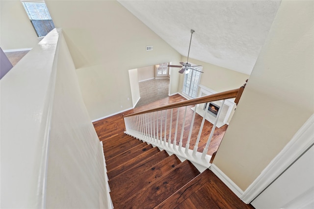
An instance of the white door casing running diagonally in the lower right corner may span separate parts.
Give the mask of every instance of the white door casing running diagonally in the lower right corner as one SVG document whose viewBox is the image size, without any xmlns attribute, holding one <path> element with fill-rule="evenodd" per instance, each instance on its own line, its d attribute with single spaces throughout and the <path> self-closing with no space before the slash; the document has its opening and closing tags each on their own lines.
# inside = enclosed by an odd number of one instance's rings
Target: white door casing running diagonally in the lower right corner
<svg viewBox="0 0 314 209">
<path fill-rule="evenodd" d="M 262 173 L 247 187 L 242 197 L 248 204 L 283 173 L 302 153 L 314 143 L 314 115 L 297 131 L 281 152 L 264 168 Z"/>
</svg>

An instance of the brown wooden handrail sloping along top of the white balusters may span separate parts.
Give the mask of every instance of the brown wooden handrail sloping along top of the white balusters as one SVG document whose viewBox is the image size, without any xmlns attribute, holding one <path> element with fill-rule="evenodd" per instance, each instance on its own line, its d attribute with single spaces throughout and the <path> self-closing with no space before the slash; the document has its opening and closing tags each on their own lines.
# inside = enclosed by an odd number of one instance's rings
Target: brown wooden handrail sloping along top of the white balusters
<svg viewBox="0 0 314 209">
<path fill-rule="evenodd" d="M 188 106 L 188 105 L 196 105 L 196 104 L 201 104 L 201 103 L 206 103 L 206 102 L 213 102 L 213 101 L 218 101 L 218 100 L 222 100 L 222 99 L 231 99 L 231 98 L 235 98 L 237 96 L 238 92 L 239 92 L 239 89 L 234 89 L 234 90 L 229 90 L 226 92 L 214 93 L 214 94 L 211 94 L 208 96 L 202 96 L 199 98 L 190 99 L 190 100 L 181 101 L 181 102 L 176 102 L 173 104 L 153 108 L 150 110 L 144 110 L 144 111 L 141 111 L 138 113 L 133 113 L 133 114 L 123 116 L 123 117 L 136 116 L 136 115 L 141 115 L 141 114 L 145 114 L 145 113 L 152 113 L 152 112 L 156 112 L 156 111 L 173 109 L 173 108 L 178 108 L 178 107 L 184 107 L 184 106 Z"/>
</svg>

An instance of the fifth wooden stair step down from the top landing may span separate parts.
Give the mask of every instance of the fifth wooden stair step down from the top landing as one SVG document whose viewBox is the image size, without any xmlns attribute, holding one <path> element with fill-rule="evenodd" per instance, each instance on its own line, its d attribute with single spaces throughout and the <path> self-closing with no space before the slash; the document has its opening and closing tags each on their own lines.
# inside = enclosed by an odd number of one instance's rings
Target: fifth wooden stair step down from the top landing
<svg viewBox="0 0 314 209">
<path fill-rule="evenodd" d="M 124 153 L 121 153 L 120 155 L 111 158 L 108 163 L 106 163 L 107 171 L 112 170 L 118 165 L 121 165 L 152 148 L 153 145 L 147 144 L 146 142 L 138 144 L 137 146 L 125 151 Z"/>
</svg>

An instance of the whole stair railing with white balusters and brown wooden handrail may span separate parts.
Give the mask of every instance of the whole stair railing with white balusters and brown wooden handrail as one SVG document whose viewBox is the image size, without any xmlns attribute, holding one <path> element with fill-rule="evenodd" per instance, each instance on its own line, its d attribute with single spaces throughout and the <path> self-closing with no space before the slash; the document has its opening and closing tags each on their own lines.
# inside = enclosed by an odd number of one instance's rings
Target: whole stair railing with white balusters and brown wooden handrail
<svg viewBox="0 0 314 209">
<path fill-rule="evenodd" d="M 223 107 L 225 100 L 231 98 L 235 98 L 235 103 L 237 104 L 244 86 L 239 89 L 215 93 L 124 116 L 126 126 L 125 133 L 157 146 L 160 149 L 164 149 L 168 153 L 176 154 L 178 157 L 189 160 L 194 164 L 196 163 L 202 167 L 208 168 L 211 158 L 211 156 L 207 154 L 209 143 L 213 137 L 222 108 L 218 110 L 206 145 L 204 147 L 203 144 L 202 147 L 204 148 L 202 148 L 199 147 L 199 143 L 208 111 L 204 111 L 203 119 L 200 124 L 194 124 L 196 105 L 205 103 L 207 104 L 205 110 L 208 110 L 209 102 L 222 100 L 221 107 Z M 192 117 L 187 117 L 186 113 L 188 108 L 193 105 L 195 108 L 192 108 L 194 109 Z M 191 139 L 192 133 L 194 136 L 193 139 Z M 204 141 L 204 139 L 202 139 L 202 141 Z M 194 145 L 193 149 L 190 149 L 191 143 Z"/>
</svg>

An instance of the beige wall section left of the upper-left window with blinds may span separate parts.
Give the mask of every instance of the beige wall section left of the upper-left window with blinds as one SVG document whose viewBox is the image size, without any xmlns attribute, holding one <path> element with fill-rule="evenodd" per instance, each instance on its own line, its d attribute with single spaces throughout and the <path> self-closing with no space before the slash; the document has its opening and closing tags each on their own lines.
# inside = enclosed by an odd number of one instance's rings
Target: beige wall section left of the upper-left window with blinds
<svg viewBox="0 0 314 209">
<path fill-rule="evenodd" d="M 2 50 L 32 48 L 36 32 L 20 0 L 0 1 L 0 46 Z"/>
</svg>

